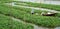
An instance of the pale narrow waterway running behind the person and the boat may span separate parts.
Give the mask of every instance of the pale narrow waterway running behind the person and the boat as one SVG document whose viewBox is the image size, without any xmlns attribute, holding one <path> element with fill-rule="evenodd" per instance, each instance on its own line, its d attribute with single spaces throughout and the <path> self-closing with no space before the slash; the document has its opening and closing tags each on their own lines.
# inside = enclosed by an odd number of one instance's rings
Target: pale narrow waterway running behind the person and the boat
<svg viewBox="0 0 60 29">
<path fill-rule="evenodd" d="M 50 9 L 45 9 L 45 8 L 38 8 L 38 7 L 29 7 L 29 6 L 15 5 L 15 2 L 6 3 L 6 4 L 7 4 L 7 5 L 11 5 L 11 6 L 17 6 L 17 7 L 23 7 L 23 8 L 31 8 L 31 9 L 36 9 L 36 10 L 42 10 L 42 11 L 49 11 L 49 12 L 60 13 L 60 11 L 55 11 L 55 10 L 50 10 Z"/>
</svg>

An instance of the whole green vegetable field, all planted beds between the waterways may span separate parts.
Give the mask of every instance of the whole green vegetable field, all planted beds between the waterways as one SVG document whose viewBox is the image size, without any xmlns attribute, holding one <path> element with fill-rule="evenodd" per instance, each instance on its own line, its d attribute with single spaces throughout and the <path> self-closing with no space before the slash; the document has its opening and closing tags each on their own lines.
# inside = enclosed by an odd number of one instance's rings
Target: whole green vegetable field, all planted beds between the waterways
<svg viewBox="0 0 60 29">
<path fill-rule="evenodd" d="M 8 2 L 1 0 L 1 2 L 3 3 L 0 3 L 0 29 L 34 29 L 34 25 L 49 28 L 60 26 L 60 13 L 55 14 L 55 16 L 42 16 L 42 12 L 48 11 L 34 9 L 34 14 L 32 15 L 31 8 L 12 6 L 5 3 L 16 2 L 15 4 L 20 6 L 47 8 L 56 11 L 60 11 L 59 5 L 17 2 L 11 0 Z M 24 5 L 24 3 L 26 5 Z M 36 15 L 36 13 L 38 13 L 38 15 Z M 12 17 L 16 18 L 16 20 L 12 19 Z"/>
</svg>

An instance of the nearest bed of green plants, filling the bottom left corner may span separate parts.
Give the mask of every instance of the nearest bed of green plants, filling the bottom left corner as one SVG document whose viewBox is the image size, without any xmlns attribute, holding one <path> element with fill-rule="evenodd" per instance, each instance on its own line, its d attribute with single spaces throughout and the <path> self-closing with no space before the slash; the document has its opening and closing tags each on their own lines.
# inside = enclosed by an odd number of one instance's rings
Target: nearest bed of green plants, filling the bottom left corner
<svg viewBox="0 0 60 29">
<path fill-rule="evenodd" d="M 14 21 L 11 17 L 0 14 L 0 29 L 33 29 L 34 27 L 22 21 Z"/>
</svg>

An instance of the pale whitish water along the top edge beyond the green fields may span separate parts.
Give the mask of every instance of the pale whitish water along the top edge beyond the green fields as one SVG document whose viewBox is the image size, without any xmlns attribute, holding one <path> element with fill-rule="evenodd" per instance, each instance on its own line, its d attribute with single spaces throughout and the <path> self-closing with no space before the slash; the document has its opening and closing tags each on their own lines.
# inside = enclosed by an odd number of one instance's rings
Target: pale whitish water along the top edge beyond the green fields
<svg viewBox="0 0 60 29">
<path fill-rule="evenodd" d="M 60 1 L 47 1 L 47 0 L 14 0 L 14 1 L 24 1 L 24 2 L 60 5 Z"/>
</svg>

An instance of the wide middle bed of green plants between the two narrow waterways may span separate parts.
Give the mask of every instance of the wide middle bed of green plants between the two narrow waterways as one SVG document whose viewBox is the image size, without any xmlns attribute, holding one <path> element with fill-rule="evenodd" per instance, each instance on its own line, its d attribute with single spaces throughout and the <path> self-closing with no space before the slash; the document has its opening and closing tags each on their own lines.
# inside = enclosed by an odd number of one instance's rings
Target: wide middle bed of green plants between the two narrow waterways
<svg viewBox="0 0 60 29">
<path fill-rule="evenodd" d="M 3 9 L 4 8 L 4 9 Z M 0 13 L 13 16 L 15 18 L 21 19 L 26 22 L 34 23 L 40 26 L 45 27 L 56 27 L 60 26 L 60 18 L 59 17 L 53 17 L 53 16 L 37 16 L 32 15 L 29 13 L 31 9 L 19 9 L 16 7 L 7 7 L 7 6 L 0 6 Z M 38 11 L 40 12 L 40 11 Z"/>
</svg>

